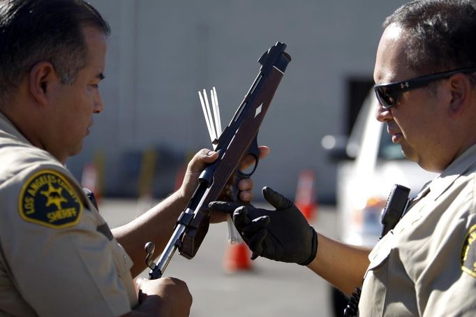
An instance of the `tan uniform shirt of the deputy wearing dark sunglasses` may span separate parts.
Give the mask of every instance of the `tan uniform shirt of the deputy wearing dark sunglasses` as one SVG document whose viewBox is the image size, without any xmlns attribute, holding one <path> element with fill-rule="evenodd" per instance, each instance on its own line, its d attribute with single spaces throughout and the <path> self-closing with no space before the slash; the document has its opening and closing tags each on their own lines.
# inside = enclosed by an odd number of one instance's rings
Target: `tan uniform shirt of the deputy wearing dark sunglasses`
<svg viewBox="0 0 476 317">
<path fill-rule="evenodd" d="M 359 316 L 476 316 L 476 145 L 369 255 Z"/>
</svg>

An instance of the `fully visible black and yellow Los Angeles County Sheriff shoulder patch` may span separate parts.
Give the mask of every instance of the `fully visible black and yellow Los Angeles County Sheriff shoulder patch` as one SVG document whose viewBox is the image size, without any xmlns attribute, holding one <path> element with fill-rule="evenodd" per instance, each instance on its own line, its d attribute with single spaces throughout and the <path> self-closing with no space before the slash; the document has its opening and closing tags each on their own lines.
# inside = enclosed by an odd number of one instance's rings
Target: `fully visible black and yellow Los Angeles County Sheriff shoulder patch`
<svg viewBox="0 0 476 317">
<path fill-rule="evenodd" d="M 26 221 L 65 228 L 80 220 L 82 203 L 64 175 L 55 170 L 42 170 L 23 185 L 18 211 Z"/>
</svg>

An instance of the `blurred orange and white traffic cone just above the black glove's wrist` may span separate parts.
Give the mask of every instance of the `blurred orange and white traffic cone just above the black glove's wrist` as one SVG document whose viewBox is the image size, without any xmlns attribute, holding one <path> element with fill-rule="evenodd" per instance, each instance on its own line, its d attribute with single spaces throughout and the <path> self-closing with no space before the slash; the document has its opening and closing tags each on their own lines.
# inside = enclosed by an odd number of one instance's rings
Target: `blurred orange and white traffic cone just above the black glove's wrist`
<svg viewBox="0 0 476 317">
<path fill-rule="evenodd" d="M 318 204 L 315 195 L 315 175 L 312 170 L 304 170 L 297 181 L 295 205 L 308 221 L 312 221 Z"/>
</svg>

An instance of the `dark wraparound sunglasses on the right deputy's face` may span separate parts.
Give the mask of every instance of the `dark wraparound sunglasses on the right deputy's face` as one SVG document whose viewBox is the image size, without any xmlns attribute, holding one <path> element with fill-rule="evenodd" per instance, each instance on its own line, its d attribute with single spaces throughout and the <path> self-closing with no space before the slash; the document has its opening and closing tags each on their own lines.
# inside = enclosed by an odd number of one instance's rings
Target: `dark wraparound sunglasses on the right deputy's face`
<svg viewBox="0 0 476 317">
<path fill-rule="evenodd" d="M 380 105 L 382 105 L 382 108 L 388 110 L 399 103 L 399 97 L 405 91 L 425 87 L 430 82 L 436 82 L 437 80 L 449 78 L 456 73 L 469 74 L 474 72 L 476 72 L 476 67 L 460 68 L 455 69 L 454 71 L 444 71 L 442 73 L 436 73 L 433 75 L 403 80 L 403 82 L 375 84 L 373 90 L 375 91 L 375 96 L 377 96 L 378 102 Z"/>
</svg>

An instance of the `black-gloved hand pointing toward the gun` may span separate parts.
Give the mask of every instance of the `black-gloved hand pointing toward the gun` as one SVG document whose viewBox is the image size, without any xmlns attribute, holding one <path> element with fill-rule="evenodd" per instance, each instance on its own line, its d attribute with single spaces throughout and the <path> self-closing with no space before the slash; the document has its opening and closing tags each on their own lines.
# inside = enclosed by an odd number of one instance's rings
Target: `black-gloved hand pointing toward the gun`
<svg viewBox="0 0 476 317">
<path fill-rule="evenodd" d="M 318 235 L 297 207 L 269 187 L 262 195 L 276 210 L 243 206 L 234 202 L 210 202 L 211 211 L 233 214 L 241 237 L 258 256 L 271 260 L 308 265 L 318 250 Z"/>
</svg>

